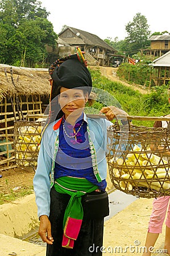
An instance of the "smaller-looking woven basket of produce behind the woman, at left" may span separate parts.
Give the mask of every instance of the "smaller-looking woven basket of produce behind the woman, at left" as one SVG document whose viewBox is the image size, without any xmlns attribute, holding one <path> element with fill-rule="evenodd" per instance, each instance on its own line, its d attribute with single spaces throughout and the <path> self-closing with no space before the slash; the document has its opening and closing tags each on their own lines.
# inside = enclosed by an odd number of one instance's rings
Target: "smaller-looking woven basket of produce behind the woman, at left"
<svg viewBox="0 0 170 256">
<path fill-rule="evenodd" d="M 41 139 L 41 122 L 17 121 L 14 123 L 14 152 L 20 167 L 36 167 Z"/>
</svg>

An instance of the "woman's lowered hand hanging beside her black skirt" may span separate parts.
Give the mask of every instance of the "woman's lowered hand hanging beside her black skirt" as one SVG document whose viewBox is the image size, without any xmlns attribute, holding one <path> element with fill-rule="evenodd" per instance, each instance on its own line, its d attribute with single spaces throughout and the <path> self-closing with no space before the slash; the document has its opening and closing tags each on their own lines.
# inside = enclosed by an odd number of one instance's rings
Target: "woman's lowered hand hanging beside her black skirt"
<svg viewBox="0 0 170 256">
<path fill-rule="evenodd" d="M 52 245 L 53 238 L 51 236 L 51 223 L 47 215 L 40 216 L 40 226 L 38 234 L 42 238 L 43 242 Z"/>
</svg>

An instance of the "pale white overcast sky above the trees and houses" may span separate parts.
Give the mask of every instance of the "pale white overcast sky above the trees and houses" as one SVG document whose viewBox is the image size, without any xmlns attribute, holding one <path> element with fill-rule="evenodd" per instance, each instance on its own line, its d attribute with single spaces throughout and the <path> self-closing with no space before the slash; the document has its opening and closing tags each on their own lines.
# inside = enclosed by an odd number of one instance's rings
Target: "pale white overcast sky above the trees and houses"
<svg viewBox="0 0 170 256">
<path fill-rule="evenodd" d="M 127 36 L 125 26 L 132 22 L 136 13 L 146 16 L 151 33 L 170 32 L 170 1 L 155 0 L 40 0 L 51 14 L 48 20 L 53 24 L 56 34 L 64 25 L 78 28 L 99 36 L 114 40 L 123 40 Z M 162 3 L 162 5 L 161 5 Z"/>
</svg>

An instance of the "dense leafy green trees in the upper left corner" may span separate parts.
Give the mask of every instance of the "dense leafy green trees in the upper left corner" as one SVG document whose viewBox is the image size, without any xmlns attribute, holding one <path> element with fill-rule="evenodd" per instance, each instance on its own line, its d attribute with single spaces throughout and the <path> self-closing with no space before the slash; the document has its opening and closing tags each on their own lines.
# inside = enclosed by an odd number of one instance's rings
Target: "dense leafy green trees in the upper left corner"
<svg viewBox="0 0 170 256">
<path fill-rule="evenodd" d="M 35 0 L 2 0 L 0 3 L 0 61 L 34 67 L 47 57 L 46 45 L 57 39 L 49 13 Z"/>
</svg>

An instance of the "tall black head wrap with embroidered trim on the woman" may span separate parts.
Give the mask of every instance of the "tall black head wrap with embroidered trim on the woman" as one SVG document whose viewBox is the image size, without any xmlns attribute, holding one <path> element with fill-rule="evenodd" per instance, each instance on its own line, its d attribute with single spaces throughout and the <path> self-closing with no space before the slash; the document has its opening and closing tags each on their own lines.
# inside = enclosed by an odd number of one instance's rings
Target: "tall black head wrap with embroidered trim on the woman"
<svg viewBox="0 0 170 256">
<path fill-rule="evenodd" d="M 62 117 L 64 114 L 57 101 L 57 96 L 60 94 L 59 86 L 68 89 L 84 87 L 90 94 L 92 90 L 92 77 L 88 71 L 83 54 L 84 52 L 81 52 L 80 49 L 77 48 L 76 54 L 56 60 L 49 67 L 49 75 L 52 78 L 50 80 L 51 95 L 49 106 L 46 109 L 47 114 L 49 114 L 45 127 L 47 127 L 49 123 Z"/>
</svg>

